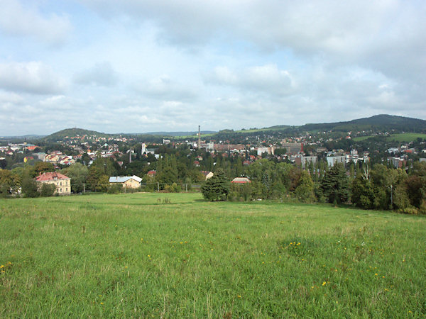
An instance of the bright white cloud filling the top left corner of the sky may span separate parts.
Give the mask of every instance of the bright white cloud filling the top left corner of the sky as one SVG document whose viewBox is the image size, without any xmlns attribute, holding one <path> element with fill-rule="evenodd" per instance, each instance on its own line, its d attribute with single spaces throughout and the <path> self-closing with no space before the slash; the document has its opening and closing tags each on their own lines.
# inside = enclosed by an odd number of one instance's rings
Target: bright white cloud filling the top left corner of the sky
<svg viewBox="0 0 426 319">
<path fill-rule="evenodd" d="M 33 3 L 34 5 L 34 3 Z M 71 31 L 66 16 L 51 13 L 48 17 L 37 7 L 18 0 L 0 0 L 0 32 L 8 35 L 31 36 L 53 45 L 65 42 Z"/>
</svg>

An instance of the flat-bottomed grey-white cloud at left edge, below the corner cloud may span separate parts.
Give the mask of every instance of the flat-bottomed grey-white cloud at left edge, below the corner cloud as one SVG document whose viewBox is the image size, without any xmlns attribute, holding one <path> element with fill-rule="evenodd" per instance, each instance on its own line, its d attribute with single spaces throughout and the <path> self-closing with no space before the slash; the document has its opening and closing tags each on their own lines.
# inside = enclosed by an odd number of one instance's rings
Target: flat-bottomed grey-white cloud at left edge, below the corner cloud
<svg viewBox="0 0 426 319">
<path fill-rule="evenodd" d="M 56 94 L 64 91 L 65 82 L 42 62 L 0 64 L 0 88 L 31 94 Z"/>
</svg>

